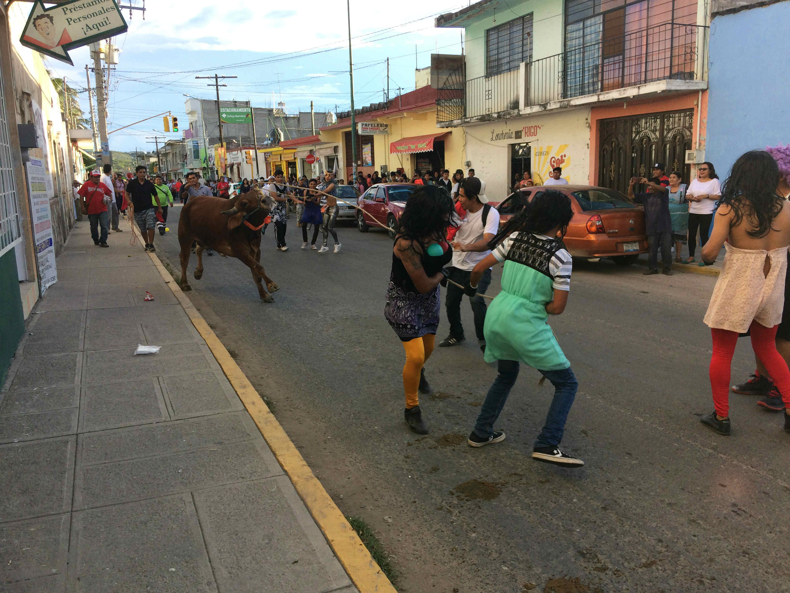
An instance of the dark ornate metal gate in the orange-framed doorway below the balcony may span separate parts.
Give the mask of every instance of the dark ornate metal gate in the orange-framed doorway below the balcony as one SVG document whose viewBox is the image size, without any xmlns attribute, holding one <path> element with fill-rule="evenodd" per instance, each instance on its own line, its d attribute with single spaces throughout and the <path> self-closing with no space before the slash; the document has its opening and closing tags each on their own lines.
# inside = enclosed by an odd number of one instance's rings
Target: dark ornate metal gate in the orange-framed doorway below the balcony
<svg viewBox="0 0 790 593">
<path fill-rule="evenodd" d="M 631 177 L 649 176 L 653 164 L 664 163 L 666 174 L 679 171 L 689 183 L 694 111 L 649 113 L 600 121 L 598 184 L 626 194 Z"/>
</svg>

